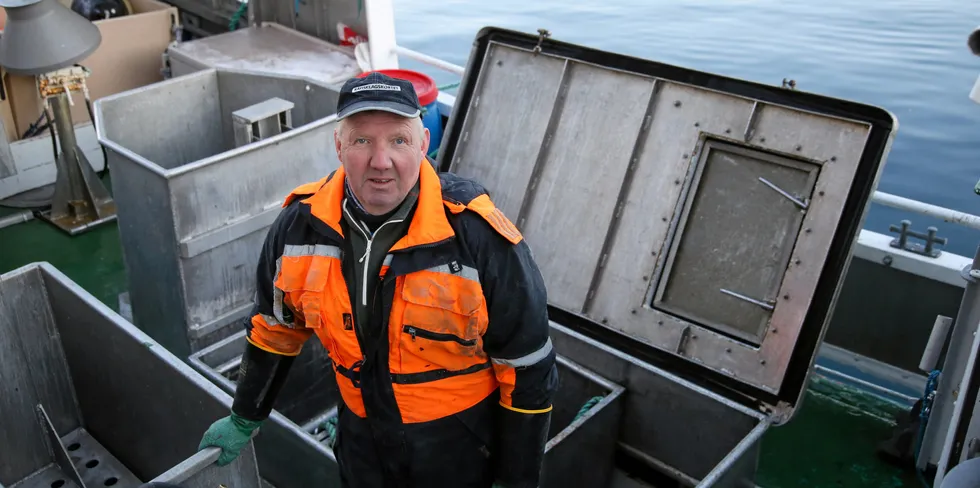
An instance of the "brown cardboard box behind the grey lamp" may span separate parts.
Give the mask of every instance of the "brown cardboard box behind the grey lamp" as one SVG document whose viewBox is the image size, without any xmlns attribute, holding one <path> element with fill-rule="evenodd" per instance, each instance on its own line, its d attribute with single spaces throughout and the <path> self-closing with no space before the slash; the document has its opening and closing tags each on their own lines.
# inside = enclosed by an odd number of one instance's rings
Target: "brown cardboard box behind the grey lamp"
<svg viewBox="0 0 980 488">
<path fill-rule="evenodd" d="M 69 5 L 67 0 L 60 0 Z M 92 71 L 86 83 L 94 101 L 133 88 L 163 80 L 162 56 L 173 41 L 173 26 L 178 23 L 177 8 L 156 0 L 128 0 L 133 13 L 124 17 L 99 20 L 95 25 L 102 33 L 102 44 L 79 64 Z M 6 12 L 0 14 L 0 26 Z M 42 103 L 33 76 L 4 74 L 4 89 L 12 112 L 13 127 L 5 127 L 8 140 L 19 140 L 41 115 Z M 72 94 L 75 125 L 89 122 L 82 95 Z M 0 116 L 3 109 L 0 108 Z"/>
</svg>

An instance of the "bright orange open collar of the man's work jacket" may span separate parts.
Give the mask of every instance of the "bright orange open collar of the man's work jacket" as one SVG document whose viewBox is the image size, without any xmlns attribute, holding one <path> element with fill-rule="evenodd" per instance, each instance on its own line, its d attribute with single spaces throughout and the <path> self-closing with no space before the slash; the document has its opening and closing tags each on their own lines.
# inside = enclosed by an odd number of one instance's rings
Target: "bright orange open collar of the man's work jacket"
<svg viewBox="0 0 980 488">
<path fill-rule="evenodd" d="M 301 194 L 309 194 L 309 190 L 316 189 L 315 193 L 301 200 L 301 203 L 308 205 L 310 214 L 317 220 L 323 222 L 328 227 L 337 232 L 341 237 L 344 231 L 341 229 L 340 221 L 343 218 L 344 202 L 344 179 L 346 173 L 344 167 L 337 169 L 332 176 L 325 177 L 317 182 L 303 185 L 293 191 L 286 198 L 286 204 Z M 307 191 L 301 192 L 301 189 Z M 439 175 L 428 160 L 423 159 L 419 168 L 419 200 L 412 222 L 408 226 L 408 232 L 402 236 L 391 251 L 407 249 L 415 246 L 433 244 L 441 242 L 455 236 L 449 220 L 446 218 L 446 211 L 442 202 L 442 185 L 439 183 Z"/>
</svg>

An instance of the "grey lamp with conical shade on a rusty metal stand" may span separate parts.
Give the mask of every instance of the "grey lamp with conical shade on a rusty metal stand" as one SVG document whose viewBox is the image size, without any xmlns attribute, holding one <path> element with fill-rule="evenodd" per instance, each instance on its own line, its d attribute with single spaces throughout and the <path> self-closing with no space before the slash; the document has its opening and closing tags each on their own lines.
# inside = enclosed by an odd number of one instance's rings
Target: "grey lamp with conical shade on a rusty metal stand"
<svg viewBox="0 0 980 488">
<path fill-rule="evenodd" d="M 0 7 L 7 12 L 0 66 L 8 73 L 35 76 L 60 143 L 54 198 L 39 217 L 72 235 L 114 220 L 115 202 L 78 147 L 71 117 L 73 91 L 89 103 L 88 70 L 75 63 L 102 43 L 99 28 L 58 0 L 0 0 Z"/>
</svg>

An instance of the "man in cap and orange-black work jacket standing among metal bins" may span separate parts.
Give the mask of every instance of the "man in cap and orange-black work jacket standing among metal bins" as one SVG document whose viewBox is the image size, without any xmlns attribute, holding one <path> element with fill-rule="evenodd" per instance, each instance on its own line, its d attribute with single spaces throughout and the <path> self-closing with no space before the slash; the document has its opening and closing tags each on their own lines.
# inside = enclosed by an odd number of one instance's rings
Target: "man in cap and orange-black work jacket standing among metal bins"
<svg viewBox="0 0 980 488">
<path fill-rule="evenodd" d="M 537 486 L 558 373 L 527 243 L 480 185 L 426 160 L 411 83 L 349 80 L 337 112 L 342 166 L 269 230 L 232 414 L 201 448 L 234 459 L 316 334 L 343 398 L 343 486 Z"/>
</svg>

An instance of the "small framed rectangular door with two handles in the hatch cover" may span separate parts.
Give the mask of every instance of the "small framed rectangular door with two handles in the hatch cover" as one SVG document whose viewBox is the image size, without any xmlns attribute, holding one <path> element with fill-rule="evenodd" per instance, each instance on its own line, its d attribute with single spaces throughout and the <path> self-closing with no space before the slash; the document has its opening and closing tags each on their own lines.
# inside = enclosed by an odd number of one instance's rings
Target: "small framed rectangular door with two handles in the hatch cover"
<svg viewBox="0 0 980 488">
<path fill-rule="evenodd" d="M 818 170 L 706 142 L 652 305 L 759 345 Z"/>
</svg>

